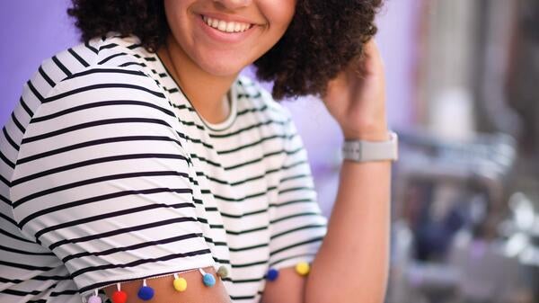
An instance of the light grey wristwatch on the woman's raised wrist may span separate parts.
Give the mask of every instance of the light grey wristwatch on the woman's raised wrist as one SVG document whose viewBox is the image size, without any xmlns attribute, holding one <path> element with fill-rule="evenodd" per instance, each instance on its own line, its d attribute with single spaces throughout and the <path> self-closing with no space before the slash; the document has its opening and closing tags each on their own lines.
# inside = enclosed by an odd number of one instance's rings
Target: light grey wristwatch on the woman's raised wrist
<svg viewBox="0 0 539 303">
<path fill-rule="evenodd" d="M 346 140 L 342 145 L 342 158 L 356 162 L 395 161 L 398 154 L 398 137 L 393 131 L 387 141 Z"/>
</svg>

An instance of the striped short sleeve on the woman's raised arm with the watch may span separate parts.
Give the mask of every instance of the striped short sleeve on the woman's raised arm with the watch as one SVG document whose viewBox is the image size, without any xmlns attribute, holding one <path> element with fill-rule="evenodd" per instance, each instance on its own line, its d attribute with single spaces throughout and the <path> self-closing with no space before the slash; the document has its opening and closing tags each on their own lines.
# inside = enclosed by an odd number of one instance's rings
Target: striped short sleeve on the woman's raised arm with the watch
<svg viewBox="0 0 539 303">
<path fill-rule="evenodd" d="M 312 262 L 327 226 L 302 139 L 291 119 L 285 128 L 287 156 L 280 170 L 278 201 L 270 208 L 270 267 L 276 269 Z"/>
</svg>

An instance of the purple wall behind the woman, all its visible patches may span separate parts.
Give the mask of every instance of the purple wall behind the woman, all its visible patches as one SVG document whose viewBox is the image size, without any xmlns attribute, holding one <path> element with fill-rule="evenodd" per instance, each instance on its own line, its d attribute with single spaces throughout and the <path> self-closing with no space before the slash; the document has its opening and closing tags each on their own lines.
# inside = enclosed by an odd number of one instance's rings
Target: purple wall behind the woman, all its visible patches
<svg viewBox="0 0 539 303">
<path fill-rule="evenodd" d="M 68 0 L 16 0 L 0 3 L 0 123 L 4 125 L 18 102 L 22 85 L 44 58 L 77 43 Z M 420 0 L 387 1 L 379 15 L 377 41 L 384 56 L 389 122 L 404 128 L 413 122 L 416 27 Z M 247 71 L 249 73 L 249 71 Z M 311 98 L 285 102 L 309 151 L 324 212 L 331 209 L 337 184 L 340 130 Z M 305 114 L 308 112 L 308 114 Z"/>
</svg>

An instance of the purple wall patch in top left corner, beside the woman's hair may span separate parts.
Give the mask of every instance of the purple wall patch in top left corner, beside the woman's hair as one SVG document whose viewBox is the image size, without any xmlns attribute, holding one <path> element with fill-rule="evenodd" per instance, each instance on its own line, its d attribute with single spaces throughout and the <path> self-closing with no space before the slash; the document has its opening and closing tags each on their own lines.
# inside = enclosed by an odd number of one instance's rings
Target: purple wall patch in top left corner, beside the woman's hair
<svg viewBox="0 0 539 303">
<path fill-rule="evenodd" d="M 67 0 L 0 2 L 0 123 L 4 125 L 22 85 L 43 59 L 77 42 Z"/>
</svg>

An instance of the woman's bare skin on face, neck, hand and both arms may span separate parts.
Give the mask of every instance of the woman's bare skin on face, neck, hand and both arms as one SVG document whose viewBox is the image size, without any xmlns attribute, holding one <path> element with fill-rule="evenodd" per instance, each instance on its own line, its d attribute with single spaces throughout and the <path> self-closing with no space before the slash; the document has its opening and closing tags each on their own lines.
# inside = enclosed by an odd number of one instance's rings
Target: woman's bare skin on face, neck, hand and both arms
<svg viewBox="0 0 539 303">
<path fill-rule="evenodd" d="M 229 109 L 221 97 L 246 64 L 277 43 L 294 13 L 287 9 L 294 7 L 293 3 L 290 0 L 165 0 L 172 34 L 158 54 L 203 117 L 218 121 L 227 116 Z M 190 12 L 206 10 L 230 18 L 241 16 L 263 25 L 254 31 L 252 40 L 232 46 L 216 45 L 196 30 L 195 19 L 189 17 Z M 365 44 L 363 56 L 349 60 L 325 84 L 323 102 L 345 138 L 388 138 L 384 64 L 373 40 Z M 212 85 L 212 92 L 197 94 L 200 85 Z M 267 283 L 262 302 L 383 302 L 388 271 L 390 174 L 389 161 L 344 161 L 328 234 L 310 274 L 305 278 L 293 269 L 282 270 L 278 281 Z M 152 283 L 163 290 L 171 289 L 172 285 L 170 277 Z M 137 297 L 135 291 L 139 286 L 140 281 L 126 283 L 130 298 Z M 114 286 L 107 291 L 111 290 Z M 209 291 L 208 296 L 193 295 L 188 299 L 171 293 L 171 297 L 152 302 L 169 303 L 175 298 L 193 303 L 230 301 L 222 287 Z"/>
</svg>

